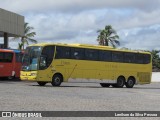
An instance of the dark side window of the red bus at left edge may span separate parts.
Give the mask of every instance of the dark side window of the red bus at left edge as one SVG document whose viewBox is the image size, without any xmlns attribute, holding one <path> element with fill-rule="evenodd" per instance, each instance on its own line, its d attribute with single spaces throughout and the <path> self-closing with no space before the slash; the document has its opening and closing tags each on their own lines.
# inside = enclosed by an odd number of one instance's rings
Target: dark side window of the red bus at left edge
<svg viewBox="0 0 160 120">
<path fill-rule="evenodd" d="M 12 62 L 13 53 L 1 52 L 0 62 Z"/>
</svg>

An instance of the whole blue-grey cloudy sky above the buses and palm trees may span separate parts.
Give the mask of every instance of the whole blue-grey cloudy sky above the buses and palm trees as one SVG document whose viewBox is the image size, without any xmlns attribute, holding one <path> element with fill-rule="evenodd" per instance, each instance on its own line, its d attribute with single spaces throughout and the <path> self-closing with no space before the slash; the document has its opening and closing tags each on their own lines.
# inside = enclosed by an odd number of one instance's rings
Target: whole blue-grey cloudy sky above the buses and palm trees
<svg viewBox="0 0 160 120">
<path fill-rule="evenodd" d="M 34 27 L 39 43 L 97 45 L 97 30 L 112 25 L 119 48 L 160 50 L 160 0 L 3 0 Z M 1 42 L 1 41 L 0 41 Z M 16 48 L 17 42 L 9 46 Z"/>
</svg>

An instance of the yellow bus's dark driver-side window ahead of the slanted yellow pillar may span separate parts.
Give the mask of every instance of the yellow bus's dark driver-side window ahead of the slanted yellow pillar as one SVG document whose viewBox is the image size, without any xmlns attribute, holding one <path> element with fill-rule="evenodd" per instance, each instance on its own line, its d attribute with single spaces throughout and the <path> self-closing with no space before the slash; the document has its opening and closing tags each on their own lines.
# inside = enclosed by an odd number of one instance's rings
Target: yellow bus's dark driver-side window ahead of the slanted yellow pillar
<svg viewBox="0 0 160 120">
<path fill-rule="evenodd" d="M 46 56 L 47 67 L 51 64 L 54 57 L 55 46 L 46 46 L 42 50 L 42 55 Z"/>
</svg>

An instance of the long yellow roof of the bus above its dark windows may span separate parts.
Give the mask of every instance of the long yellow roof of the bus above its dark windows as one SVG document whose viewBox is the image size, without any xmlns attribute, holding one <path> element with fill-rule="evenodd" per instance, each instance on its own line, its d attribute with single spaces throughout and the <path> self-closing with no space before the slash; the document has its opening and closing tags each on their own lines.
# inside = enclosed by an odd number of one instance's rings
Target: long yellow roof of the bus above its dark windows
<svg viewBox="0 0 160 120">
<path fill-rule="evenodd" d="M 115 49 L 111 46 L 90 45 L 90 44 L 38 43 L 38 44 L 30 45 L 30 46 L 47 46 L 47 45 L 69 46 L 69 47 L 78 47 L 78 48 L 92 48 L 92 49 L 111 50 L 111 51 L 119 51 L 119 52 L 151 54 L 150 52 L 145 52 L 145 51 Z"/>
</svg>

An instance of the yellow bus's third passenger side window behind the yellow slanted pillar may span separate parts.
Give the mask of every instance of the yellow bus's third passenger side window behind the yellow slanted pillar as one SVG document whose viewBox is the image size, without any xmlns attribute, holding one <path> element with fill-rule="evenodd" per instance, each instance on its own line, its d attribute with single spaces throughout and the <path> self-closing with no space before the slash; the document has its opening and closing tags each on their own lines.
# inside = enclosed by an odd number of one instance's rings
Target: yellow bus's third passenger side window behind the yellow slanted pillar
<svg viewBox="0 0 160 120">
<path fill-rule="evenodd" d="M 98 60 L 98 50 L 85 49 L 85 59 L 86 60 Z"/>
</svg>

